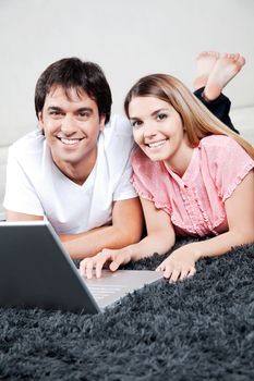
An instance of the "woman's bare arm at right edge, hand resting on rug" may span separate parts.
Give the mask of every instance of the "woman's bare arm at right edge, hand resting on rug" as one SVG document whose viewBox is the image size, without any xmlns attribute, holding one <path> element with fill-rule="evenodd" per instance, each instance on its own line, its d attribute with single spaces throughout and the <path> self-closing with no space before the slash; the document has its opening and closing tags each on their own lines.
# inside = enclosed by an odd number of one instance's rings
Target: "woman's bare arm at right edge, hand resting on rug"
<svg viewBox="0 0 254 381">
<path fill-rule="evenodd" d="M 254 171 L 237 186 L 225 202 L 229 230 L 210 239 L 188 244 L 174 250 L 158 270 L 176 282 L 195 272 L 195 262 L 203 257 L 220 256 L 232 247 L 254 242 Z"/>
</svg>

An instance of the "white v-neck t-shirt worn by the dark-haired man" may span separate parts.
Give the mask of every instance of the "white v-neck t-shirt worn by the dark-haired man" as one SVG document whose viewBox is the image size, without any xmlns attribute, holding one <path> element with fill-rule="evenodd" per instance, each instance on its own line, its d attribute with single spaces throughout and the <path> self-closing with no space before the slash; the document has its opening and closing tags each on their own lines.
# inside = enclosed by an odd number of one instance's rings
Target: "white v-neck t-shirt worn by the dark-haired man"
<svg viewBox="0 0 254 381">
<path fill-rule="evenodd" d="M 9 149 L 3 206 L 44 216 L 58 234 L 109 224 L 112 201 L 136 197 L 130 183 L 132 148 L 130 123 L 123 116 L 112 116 L 99 135 L 93 171 L 77 185 L 57 168 L 45 136 L 36 130 Z"/>
</svg>

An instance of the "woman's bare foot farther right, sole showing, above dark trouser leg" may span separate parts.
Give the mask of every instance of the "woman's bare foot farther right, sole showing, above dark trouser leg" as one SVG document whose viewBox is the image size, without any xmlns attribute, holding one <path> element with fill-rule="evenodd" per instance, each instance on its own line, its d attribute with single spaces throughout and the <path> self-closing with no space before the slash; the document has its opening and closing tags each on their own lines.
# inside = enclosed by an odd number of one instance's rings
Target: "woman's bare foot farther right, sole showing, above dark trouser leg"
<svg viewBox="0 0 254 381">
<path fill-rule="evenodd" d="M 245 64 L 245 59 L 237 54 L 221 54 L 208 76 L 204 96 L 208 100 L 218 98 L 223 87 L 240 72 Z"/>
</svg>

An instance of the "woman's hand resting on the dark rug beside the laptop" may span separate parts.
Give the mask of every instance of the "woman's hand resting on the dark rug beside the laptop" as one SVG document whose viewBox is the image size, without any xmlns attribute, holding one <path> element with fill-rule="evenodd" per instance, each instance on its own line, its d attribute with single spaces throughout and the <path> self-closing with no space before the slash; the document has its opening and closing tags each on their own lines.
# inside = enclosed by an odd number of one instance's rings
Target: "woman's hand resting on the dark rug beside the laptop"
<svg viewBox="0 0 254 381">
<path fill-rule="evenodd" d="M 156 269 L 164 271 L 164 278 L 170 282 L 182 281 L 193 276 L 196 272 L 195 262 L 198 259 L 192 244 L 180 247 L 166 258 Z"/>
</svg>

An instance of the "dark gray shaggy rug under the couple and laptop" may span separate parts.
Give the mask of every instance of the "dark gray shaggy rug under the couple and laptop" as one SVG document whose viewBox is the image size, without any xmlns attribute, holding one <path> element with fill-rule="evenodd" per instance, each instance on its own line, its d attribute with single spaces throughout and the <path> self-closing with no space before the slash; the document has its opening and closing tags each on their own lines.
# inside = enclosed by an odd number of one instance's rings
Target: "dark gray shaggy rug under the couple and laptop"
<svg viewBox="0 0 254 381">
<path fill-rule="evenodd" d="M 125 268 L 155 269 L 161 259 Z M 146 285 L 96 316 L 0 314 L 3 380 L 253 380 L 254 245 L 201 260 L 193 279 Z"/>
</svg>

